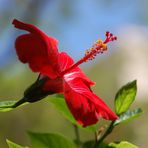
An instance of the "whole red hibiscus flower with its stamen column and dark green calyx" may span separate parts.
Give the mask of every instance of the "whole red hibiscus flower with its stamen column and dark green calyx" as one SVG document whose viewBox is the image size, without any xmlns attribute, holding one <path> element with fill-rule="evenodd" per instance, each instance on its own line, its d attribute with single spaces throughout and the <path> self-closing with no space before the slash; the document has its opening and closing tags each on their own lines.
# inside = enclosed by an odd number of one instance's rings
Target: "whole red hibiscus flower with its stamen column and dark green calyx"
<svg viewBox="0 0 148 148">
<path fill-rule="evenodd" d="M 13 24 L 29 32 L 16 39 L 15 48 L 19 60 L 28 63 L 33 72 L 40 73 L 37 81 L 24 93 L 27 102 L 35 102 L 49 94 L 62 93 L 72 115 L 82 126 L 95 124 L 100 117 L 117 119 L 116 114 L 92 92 L 90 87 L 94 82 L 78 67 L 107 50 L 106 43 L 116 40 L 116 37 L 106 32 L 104 42 L 98 40 L 82 59 L 74 63 L 69 55 L 58 51 L 56 39 L 31 24 L 16 19 Z"/>
</svg>

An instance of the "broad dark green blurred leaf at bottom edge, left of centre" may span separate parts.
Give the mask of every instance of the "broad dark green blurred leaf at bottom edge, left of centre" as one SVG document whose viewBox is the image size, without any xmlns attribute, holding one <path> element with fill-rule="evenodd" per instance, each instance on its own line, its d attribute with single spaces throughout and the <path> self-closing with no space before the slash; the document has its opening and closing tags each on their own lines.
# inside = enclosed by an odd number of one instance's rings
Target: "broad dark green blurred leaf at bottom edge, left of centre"
<svg viewBox="0 0 148 148">
<path fill-rule="evenodd" d="M 76 145 L 62 135 L 55 133 L 29 132 L 33 148 L 76 148 Z"/>
</svg>

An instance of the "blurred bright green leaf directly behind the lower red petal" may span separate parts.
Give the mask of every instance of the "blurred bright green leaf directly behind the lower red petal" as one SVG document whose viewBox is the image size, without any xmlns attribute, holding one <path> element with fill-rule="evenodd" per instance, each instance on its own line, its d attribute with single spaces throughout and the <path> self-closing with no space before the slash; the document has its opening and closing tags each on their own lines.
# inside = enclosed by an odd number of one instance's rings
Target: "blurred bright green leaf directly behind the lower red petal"
<svg viewBox="0 0 148 148">
<path fill-rule="evenodd" d="M 73 124 L 76 124 L 79 128 L 82 128 L 84 130 L 87 131 L 91 131 L 91 132 L 95 132 L 97 129 L 97 125 L 91 125 L 88 127 L 83 128 L 82 126 L 80 126 L 77 121 L 74 119 L 74 117 L 72 116 L 71 112 L 69 111 L 65 99 L 63 98 L 62 95 L 53 95 L 50 96 L 50 98 L 48 99 L 48 101 L 50 103 L 52 103 L 54 105 L 54 107 L 66 118 L 68 119 L 70 122 L 72 122 Z"/>
</svg>

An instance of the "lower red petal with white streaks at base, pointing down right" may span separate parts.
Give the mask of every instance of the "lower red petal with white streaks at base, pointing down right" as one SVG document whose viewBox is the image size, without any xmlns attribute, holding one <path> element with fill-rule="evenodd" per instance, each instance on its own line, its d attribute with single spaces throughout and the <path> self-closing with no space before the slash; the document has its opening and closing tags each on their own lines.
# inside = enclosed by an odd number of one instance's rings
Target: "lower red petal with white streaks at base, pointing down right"
<svg viewBox="0 0 148 148">
<path fill-rule="evenodd" d="M 75 119 L 83 126 L 95 124 L 100 117 L 116 120 L 117 116 L 97 97 L 81 78 L 64 77 L 64 95 Z"/>
</svg>

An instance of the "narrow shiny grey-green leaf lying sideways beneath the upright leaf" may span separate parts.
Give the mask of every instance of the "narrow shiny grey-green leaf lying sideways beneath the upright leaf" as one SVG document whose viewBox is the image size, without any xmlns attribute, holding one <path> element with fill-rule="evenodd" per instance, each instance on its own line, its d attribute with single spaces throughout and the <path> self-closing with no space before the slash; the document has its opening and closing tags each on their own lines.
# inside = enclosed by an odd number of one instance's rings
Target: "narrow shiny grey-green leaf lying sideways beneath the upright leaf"
<svg viewBox="0 0 148 148">
<path fill-rule="evenodd" d="M 129 121 L 139 117 L 140 115 L 142 115 L 142 113 L 143 113 L 143 111 L 141 108 L 136 108 L 133 111 L 128 110 L 127 112 L 125 112 L 119 116 L 119 119 L 117 119 L 114 122 L 114 126 L 116 126 L 120 123 L 129 122 Z"/>
</svg>

